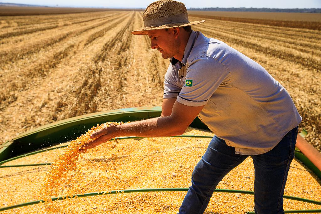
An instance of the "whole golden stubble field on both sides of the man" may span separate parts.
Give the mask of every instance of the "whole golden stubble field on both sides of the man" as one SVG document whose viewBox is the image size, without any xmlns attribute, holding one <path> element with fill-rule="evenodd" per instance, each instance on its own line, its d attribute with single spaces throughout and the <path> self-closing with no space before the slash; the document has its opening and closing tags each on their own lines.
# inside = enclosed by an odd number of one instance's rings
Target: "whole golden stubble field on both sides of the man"
<svg viewBox="0 0 321 214">
<path fill-rule="evenodd" d="M 147 37 L 130 34 L 140 26 L 141 12 L 131 11 L 2 17 L 1 141 L 71 116 L 160 105 L 169 62 Z M 193 29 L 240 50 L 280 81 L 303 116 L 307 140 L 320 150 L 320 31 L 213 19 Z"/>
</svg>

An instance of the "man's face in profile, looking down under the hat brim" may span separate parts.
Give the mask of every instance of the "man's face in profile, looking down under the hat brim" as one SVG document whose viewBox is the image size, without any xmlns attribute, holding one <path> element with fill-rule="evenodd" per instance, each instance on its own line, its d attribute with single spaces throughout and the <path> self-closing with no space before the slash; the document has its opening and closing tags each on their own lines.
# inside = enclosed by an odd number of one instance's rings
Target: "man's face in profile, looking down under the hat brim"
<svg viewBox="0 0 321 214">
<path fill-rule="evenodd" d="M 151 48 L 156 48 L 164 59 L 173 57 L 178 52 L 178 42 L 172 29 L 149 30 L 147 33 L 151 38 Z"/>
</svg>

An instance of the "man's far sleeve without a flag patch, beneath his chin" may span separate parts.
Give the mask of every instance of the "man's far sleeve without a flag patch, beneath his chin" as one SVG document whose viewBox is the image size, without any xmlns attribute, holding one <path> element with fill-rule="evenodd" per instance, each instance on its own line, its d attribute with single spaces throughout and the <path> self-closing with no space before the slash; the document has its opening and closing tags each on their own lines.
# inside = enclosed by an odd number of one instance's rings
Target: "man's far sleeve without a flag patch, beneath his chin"
<svg viewBox="0 0 321 214">
<path fill-rule="evenodd" d="M 181 91 L 181 87 L 177 82 L 178 71 L 172 64 L 169 64 L 164 80 L 164 96 L 163 98 L 176 98 Z"/>
</svg>

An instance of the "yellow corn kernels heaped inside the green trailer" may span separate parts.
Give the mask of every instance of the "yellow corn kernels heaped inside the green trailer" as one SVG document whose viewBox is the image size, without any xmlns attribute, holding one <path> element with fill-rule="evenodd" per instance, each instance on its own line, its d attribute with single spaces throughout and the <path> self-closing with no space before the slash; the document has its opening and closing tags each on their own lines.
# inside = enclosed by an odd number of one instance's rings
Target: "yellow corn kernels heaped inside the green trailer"
<svg viewBox="0 0 321 214">
<path fill-rule="evenodd" d="M 192 128 L 188 128 L 185 134 L 213 135 Z M 114 141 L 100 144 L 75 161 L 77 169 L 69 171 L 65 179 L 61 180 L 63 183 L 57 191 L 63 190 L 63 193 L 58 195 L 188 187 L 193 169 L 206 151 L 210 140 L 166 137 L 126 139 L 119 140 L 118 144 Z M 113 148 L 114 145 L 117 147 Z M 61 150 L 63 149 L 46 151 L 13 160 L 5 165 L 53 162 L 54 157 L 61 154 Z M 117 156 L 111 157 L 111 154 Z M 117 175 L 114 167 L 117 167 Z M 50 166 L 0 168 L 0 192 L 4 193 L 0 194 L 0 207 L 42 199 L 39 187 L 49 171 Z M 313 172 L 294 159 L 285 195 L 321 201 L 320 184 L 320 179 Z M 253 185 L 253 162 L 251 158 L 247 158 L 226 175 L 217 188 L 253 191 Z M 185 194 L 186 192 L 109 194 L 45 202 L 1 213 L 177 213 Z M 245 213 L 253 209 L 253 195 L 214 193 L 205 213 Z M 320 206 L 285 199 L 284 209 L 320 209 Z"/>
</svg>

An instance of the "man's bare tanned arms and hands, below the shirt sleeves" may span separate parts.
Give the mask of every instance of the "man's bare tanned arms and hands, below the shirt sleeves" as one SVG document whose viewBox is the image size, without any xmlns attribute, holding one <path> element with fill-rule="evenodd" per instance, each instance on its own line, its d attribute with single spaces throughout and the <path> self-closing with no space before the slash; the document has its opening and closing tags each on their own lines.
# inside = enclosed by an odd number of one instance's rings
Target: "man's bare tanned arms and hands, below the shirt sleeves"
<svg viewBox="0 0 321 214">
<path fill-rule="evenodd" d="M 93 133 L 91 138 L 96 139 L 86 144 L 84 150 L 96 147 L 114 137 L 167 137 L 183 134 L 204 106 L 186 106 L 175 101 L 169 115 L 169 109 L 166 106 L 170 108 L 172 103 L 172 99 L 163 101 L 163 108 L 166 108 L 166 110 L 162 112 L 160 117 L 135 121 L 120 126 L 111 125 Z"/>
</svg>

